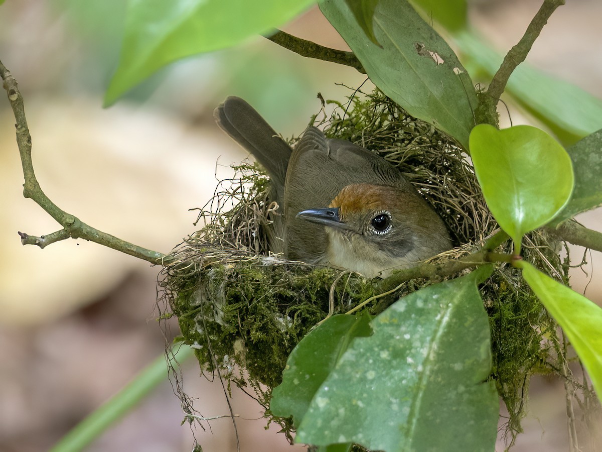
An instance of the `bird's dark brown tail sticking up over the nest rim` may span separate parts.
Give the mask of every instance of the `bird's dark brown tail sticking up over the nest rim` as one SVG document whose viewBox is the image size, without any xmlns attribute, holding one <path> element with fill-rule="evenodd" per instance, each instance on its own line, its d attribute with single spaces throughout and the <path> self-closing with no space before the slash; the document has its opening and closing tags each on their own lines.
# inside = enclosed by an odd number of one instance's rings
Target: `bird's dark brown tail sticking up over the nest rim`
<svg viewBox="0 0 602 452">
<path fill-rule="evenodd" d="M 214 110 L 213 116 L 223 131 L 261 163 L 268 172 L 276 193 L 282 196 L 291 147 L 265 122 L 255 108 L 240 97 L 226 98 Z"/>
</svg>

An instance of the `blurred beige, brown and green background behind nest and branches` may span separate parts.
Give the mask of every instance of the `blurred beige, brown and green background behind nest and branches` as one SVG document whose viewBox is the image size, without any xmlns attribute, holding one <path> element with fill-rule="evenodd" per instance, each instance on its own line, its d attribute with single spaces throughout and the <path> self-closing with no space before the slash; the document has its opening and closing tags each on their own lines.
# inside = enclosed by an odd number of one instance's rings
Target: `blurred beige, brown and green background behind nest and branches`
<svg viewBox="0 0 602 452">
<path fill-rule="evenodd" d="M 514 45 L 541 0 L 478 0 L 470 18 L 502 52 Z M 169 253 L 195 230 L 229 165 L 246 154 L 213 121 L 228 95 L 254 105 L 283 136 L 299 134 L 320 110 L 317 93 L 344 101 L 365 81 L 354 69 L 299 57 L 257 37 L 235 49 L 188 58 L 160 71 L 111 108 L 102 96 L 117 65 L 125 2 L 7 0 L 0 7 L 0 60 L 19 81 L 42 188 L 59 206 L 102 231 Z M 602 2 L 572 0 L 551 17 L 527 61 L 602 98 Z M 312 8 L 284 27 L 346 49 Z M 474 80 L 475 83 L 478 80 Z M 4 99 L 4 96 L 2 96 Z M 513 124 L 535 124 L 509 105 Z M 503 118 L 507 124 L 507 117 Z M 73 425 L 163 353 L 177 324 L 157 322 L 160 268 L 84 240 L 44 250 L 17 231 L 58 225 L 22 197 L 14 118 L 0 102 L 0 450 L 48 450 Z M 601 230 L 600 212 L 579 219 Z M 573 247 L 579 263 L 583 249 Z M 574 288 L 602 304 L 600 253 L 587 254 Z M 167 331 L 167 333 L 166 333 Z M 219 383 L 184 365 L 184 388 L 203 416 L 228 414 Z M 292 451 L 260 407 L 234 391 L 241 450 Z M 568 450 L 562 381 L 536 377 L 526 433 L 516 451 Z M 92 444 L 90 451 L 188 451 L 193 433 L 165 381 Z M 277 426 L 276 426 L 277 427 Z M 236 450 L 229 419 L 194 433 L 206 452 Z M 503 450 L 499 442 L 498 450 Z"/>
</svg>

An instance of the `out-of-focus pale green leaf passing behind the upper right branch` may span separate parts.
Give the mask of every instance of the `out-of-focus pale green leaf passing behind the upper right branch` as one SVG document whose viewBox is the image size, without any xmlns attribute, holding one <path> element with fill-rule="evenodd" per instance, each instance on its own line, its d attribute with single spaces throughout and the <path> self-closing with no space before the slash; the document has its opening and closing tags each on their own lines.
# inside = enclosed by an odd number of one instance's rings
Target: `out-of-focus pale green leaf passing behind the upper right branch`
<svg viewBox="0 0 602 452">
<path fill-rule="evenodd" d="M 483 72 L 491 80 L 500 67 L 502 55 L 474 33 L 458 33 L 454 39 L 473 77 Z M 512 72 L 506 93 L 568 145 L 602 128 L 602 100 L 528 63 L 521 63 Z"/>
</svg>

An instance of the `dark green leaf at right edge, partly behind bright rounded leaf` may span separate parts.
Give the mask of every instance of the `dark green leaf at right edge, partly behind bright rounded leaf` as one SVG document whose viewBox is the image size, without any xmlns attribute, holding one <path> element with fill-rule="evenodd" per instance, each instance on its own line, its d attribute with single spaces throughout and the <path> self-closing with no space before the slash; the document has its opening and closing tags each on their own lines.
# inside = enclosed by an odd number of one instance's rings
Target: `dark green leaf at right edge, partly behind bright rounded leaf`
<svg viewBox="0 0 602 452">
<path fill-rule="evenodd" d="M 602 129 L 567 149 L 575 172 L 575 189 L 555 222 L 602 204 Z"/>
</svg>

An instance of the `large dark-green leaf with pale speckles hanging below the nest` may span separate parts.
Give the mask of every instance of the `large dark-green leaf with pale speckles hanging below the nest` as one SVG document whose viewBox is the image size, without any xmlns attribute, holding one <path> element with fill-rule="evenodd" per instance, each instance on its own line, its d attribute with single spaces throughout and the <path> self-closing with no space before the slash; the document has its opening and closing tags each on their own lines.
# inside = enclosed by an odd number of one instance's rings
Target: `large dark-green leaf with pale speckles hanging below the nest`
<svg viewBox="0 0 602 452">
<path fill-rule="evenodd" d="M 470 275 L 418 290 L 371 322 L 311 401 L 297 442 L 370 450 L 494 450 L 489 321 Z"/>
</svg>

